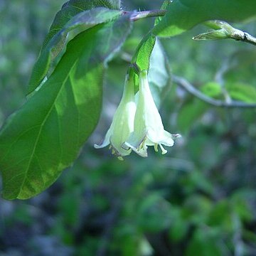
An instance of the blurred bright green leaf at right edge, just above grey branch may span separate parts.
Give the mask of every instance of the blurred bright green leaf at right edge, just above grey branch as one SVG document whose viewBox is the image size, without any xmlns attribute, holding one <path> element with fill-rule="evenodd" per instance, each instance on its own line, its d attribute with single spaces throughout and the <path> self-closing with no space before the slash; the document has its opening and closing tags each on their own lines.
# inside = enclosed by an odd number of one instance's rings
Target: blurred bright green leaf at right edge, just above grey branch
<svg viewBox="0 0 256 256">
<path fill-rule="evenodd" d="M 247 103 L 256 102 L 256 87 L 252 85 L 246 85 L 244 83 L 235 82 L 227 83 L 225 85 L 229 95 L 234 100 L 240 100 Z"/>
</svg>

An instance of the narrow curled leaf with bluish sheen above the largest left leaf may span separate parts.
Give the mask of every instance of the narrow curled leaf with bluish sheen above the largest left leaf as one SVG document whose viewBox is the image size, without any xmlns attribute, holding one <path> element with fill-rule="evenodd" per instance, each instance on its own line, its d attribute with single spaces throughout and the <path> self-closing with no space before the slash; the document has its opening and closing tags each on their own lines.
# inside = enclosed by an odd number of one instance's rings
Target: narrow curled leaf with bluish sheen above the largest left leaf
<svg viewBox="0 0 256 256">
<path fill-rule="evenodd" d="M 85 8 L 85 6 L 83 7 Z M 49 72 L 50 65 L 54 64 L 53 61 L 56 62 L 55 65 L 58 63 L 58 60 L 61 58 L 61 53 L 65 51 L 65 46 L 68 41 L 77 36 L 78 33 L 92 26 L 96 26 L 97 24 L 110 21 L 121 14 L 121 11 L 96 8 L 89 11 L 82 11 L 68 21 L 67 16 L 70 16 L 70 8 L 70 6 L 63 7 L 62 11 L 56 15 L 53 21 L 46 41 L 43 43 L 41 54 L 34 65 L 28 84 L 28 94 L 36 90 L 41 84 Z M 77 11 L 75 11 L 74 14 L 76 12 Z M 73 33 L 70 33 L 70 31 L 73 31 Z M 54 68 L 51 67 L 52 72 L 53 70 Z"/>
</svg>

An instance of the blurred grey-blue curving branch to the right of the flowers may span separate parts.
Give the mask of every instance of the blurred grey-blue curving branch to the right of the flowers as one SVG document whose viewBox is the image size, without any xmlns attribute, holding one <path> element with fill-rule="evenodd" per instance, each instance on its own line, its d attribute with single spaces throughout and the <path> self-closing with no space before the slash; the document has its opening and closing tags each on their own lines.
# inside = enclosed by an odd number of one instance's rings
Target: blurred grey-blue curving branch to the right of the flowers
<svg viewBox="0 0 256 256">
<path fill-rule="evenodd" d="M 256 107 L 255 104 L 245 103 L 245 102 L 238 102 L 238 101 L 231 101 L 231 102 L 223 102 L 221 100 L 215 100 L 211 97 L 208 97 L 204 95 L 202 92 L 197 90 L 191 83 L 189 83 L 186 79 L 180 78 L 176 75 L 172 75 L 173 82 L 176 83 L 176 85 L 183 87 L 187 92 L 191 93 L 191 95 L 194 95 L 198 97 L 198 99 L 203 100 L 204 102 L 213 105 L 215 107 L 242 107 L 242 108 L 250 108 L 250 107 Z"/>
</svg>

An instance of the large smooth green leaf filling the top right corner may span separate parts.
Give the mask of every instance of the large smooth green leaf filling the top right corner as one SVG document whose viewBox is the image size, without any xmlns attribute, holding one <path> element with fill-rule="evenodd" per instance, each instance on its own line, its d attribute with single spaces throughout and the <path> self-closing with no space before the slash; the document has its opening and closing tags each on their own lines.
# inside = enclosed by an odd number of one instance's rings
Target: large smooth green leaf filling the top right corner
<svg viewBox="0 0 256 256">
<path fill-rule="evenodd" d="M 163 37 L 176 36 L 203 21 L 219 19 L 233 22 L 255 16 L 255 0 L 174 0 L 153 33 Z"/>
</svg>

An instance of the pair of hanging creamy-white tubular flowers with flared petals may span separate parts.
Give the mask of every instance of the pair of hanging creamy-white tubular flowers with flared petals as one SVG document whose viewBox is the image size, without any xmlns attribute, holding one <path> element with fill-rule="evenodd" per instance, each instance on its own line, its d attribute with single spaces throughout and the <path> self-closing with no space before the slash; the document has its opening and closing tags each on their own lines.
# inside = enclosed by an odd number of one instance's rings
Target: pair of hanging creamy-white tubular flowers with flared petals
<svg viewBox="0 0 256 256">
<path fill-rule="evenodd" d="M 122 160 L 122 156 L 135 151 L 139 156 L 147 156 L 148 146 L 160 147 L 162 154 L 167 151 L 164 146 L 173 146 L 179 134 L 170 134 L 164 129 L 159 111 L 149 89 L 147 70 L 139 73 L 139 92 L 135 103 L 134 85 L 127 75 L 122 100 L 114 114 L 110 129 L 102 144 L 95 144 L 96 149 L 110 144 L 112 154 Z"/>
</svg>

